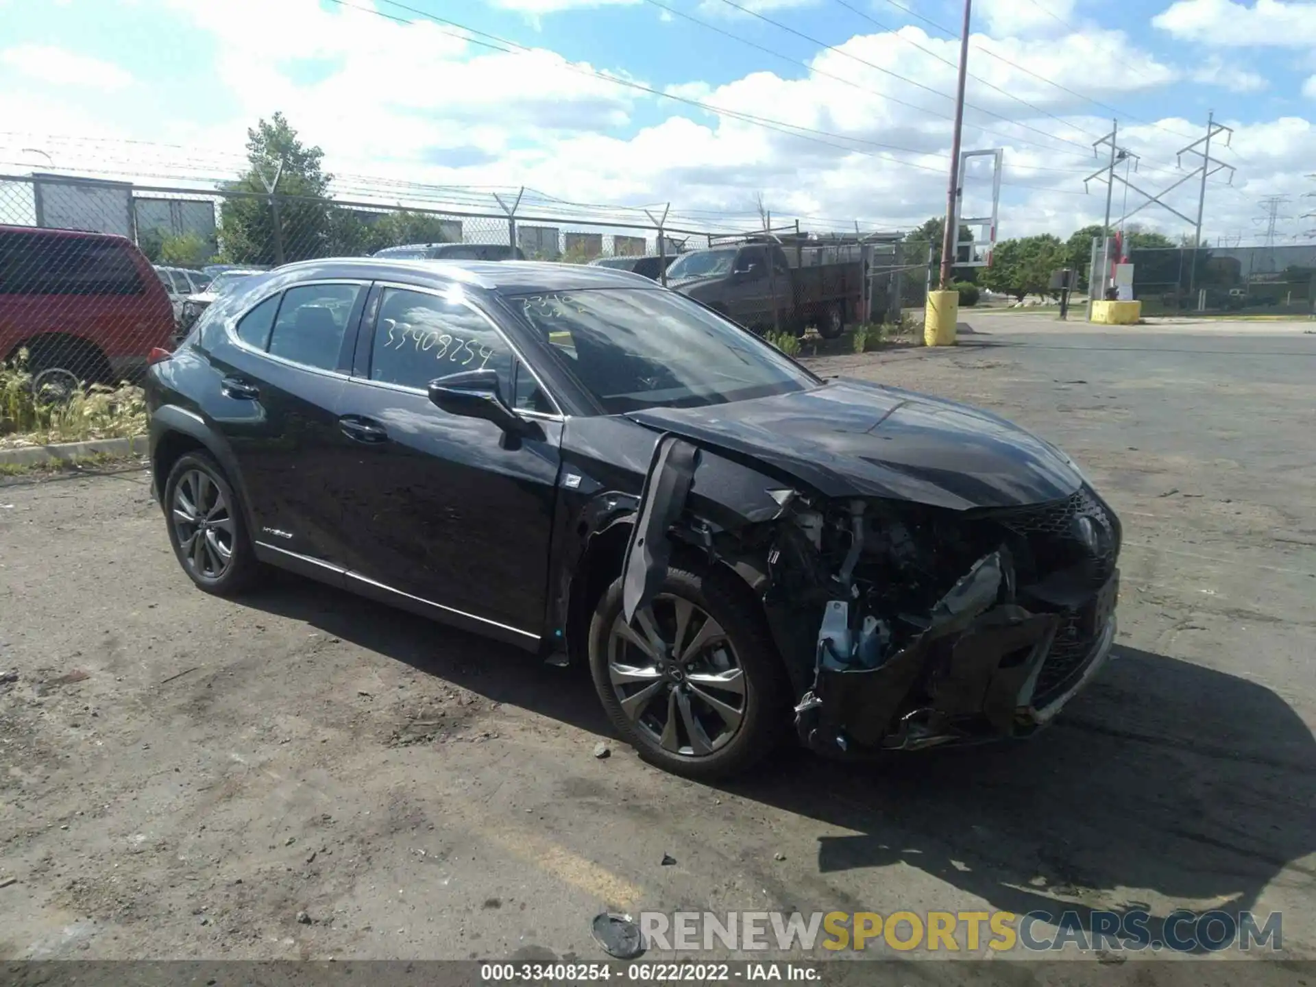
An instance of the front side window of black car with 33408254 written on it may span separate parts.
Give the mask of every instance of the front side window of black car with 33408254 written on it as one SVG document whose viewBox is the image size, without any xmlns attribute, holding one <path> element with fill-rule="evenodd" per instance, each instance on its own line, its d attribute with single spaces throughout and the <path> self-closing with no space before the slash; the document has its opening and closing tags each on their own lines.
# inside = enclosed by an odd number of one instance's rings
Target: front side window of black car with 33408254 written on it
<svg viewBox="0 0 1316 987">
<path fill-rule="evenodd" d="M 494 370 L 504 395 L 512 391 L 512 351 L 483 316 L 438 295 L 386 288 L 370 379 L 424 390 L 430 380 L 463 370 Z"/>
</svg>

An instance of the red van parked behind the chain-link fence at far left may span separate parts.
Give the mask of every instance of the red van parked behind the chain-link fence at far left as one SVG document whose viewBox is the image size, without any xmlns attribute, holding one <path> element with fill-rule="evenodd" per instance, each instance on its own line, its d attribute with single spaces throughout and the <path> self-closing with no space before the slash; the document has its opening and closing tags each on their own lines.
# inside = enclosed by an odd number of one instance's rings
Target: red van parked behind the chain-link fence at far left
<svg viewBox="0 0 1316 987">
<path fill-rule="evenodd" d="M 0 359 L 26 347 L 42 380 L 117 383 L 172 336 L 168 293 L 130 241 L 0 226 Z"/>
</svg>

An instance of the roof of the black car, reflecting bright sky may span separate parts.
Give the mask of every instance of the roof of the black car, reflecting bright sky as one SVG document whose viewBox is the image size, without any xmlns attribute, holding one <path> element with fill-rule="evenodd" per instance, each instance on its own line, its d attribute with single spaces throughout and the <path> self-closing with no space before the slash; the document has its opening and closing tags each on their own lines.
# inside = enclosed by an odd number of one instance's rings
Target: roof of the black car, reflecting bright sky
<svg viewBox="0 0 1316 987">
<path fill-rule="evenodd" d="M 541 261 L 429 261 L 390 257 L 326 258 L 284 265 L 270 275 L 305 272 L 307 278 L 371 278 L 443 287 L 453 282 L 500 295 L 530 295 L 537 291 L 584 288 L 653 288 L 654 282 L 640 274 L 588 265 L 559 265 Z M 290 278 L 290 280 L 293 280 Z M 300 280 L 300 278 L 295 279 Z"/>
</svg>

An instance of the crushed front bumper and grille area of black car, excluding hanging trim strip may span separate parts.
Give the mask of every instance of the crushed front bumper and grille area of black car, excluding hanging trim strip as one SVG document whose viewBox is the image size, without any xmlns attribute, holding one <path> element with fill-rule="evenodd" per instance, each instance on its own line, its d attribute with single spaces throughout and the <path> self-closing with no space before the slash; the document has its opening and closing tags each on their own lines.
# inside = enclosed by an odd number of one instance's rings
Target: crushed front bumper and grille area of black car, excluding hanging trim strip
<svg viewBox="0 0 1316 987">
<path fill-rule="evenodd" d="M 1086 487 L 1023 509 L 957 515 L 854 500 L 829 513 L 790 519 L 824 558 L 830 533 L 830 554 L 841 558 L 813 587 L 829 597 L 813 678 L 796 705 L 811 747 L 1026 736 L 1105 661 L 1120 532 Z M 786 599 L 766 603 L 795 609 Z"/>
</svg>

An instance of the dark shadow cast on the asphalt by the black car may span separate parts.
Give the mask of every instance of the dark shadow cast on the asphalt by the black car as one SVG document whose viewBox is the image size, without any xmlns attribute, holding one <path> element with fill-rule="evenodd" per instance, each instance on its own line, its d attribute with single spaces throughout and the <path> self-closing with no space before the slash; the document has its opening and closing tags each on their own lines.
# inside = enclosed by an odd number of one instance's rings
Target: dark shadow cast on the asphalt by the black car
<svg viewBox="0 0 1316 987">
<path fill-rule="evenodd" d="M 583 669 L 286 574 L 245 603 L 615 736 Z M 1084 929 L 1094 907 L 1141 909 L 1153 941 L 1177 907 L 1252 909 L 1316 853 L 1316 740 L 1302 719 L 1255 682 L 1130 647 L 1030 741 L 862 763 L 787 747 L 716 787 L 850 830 L 819 837 L 820 874 L 904 863 L 995 909 L 1070 911 Z"/>
</svg>

